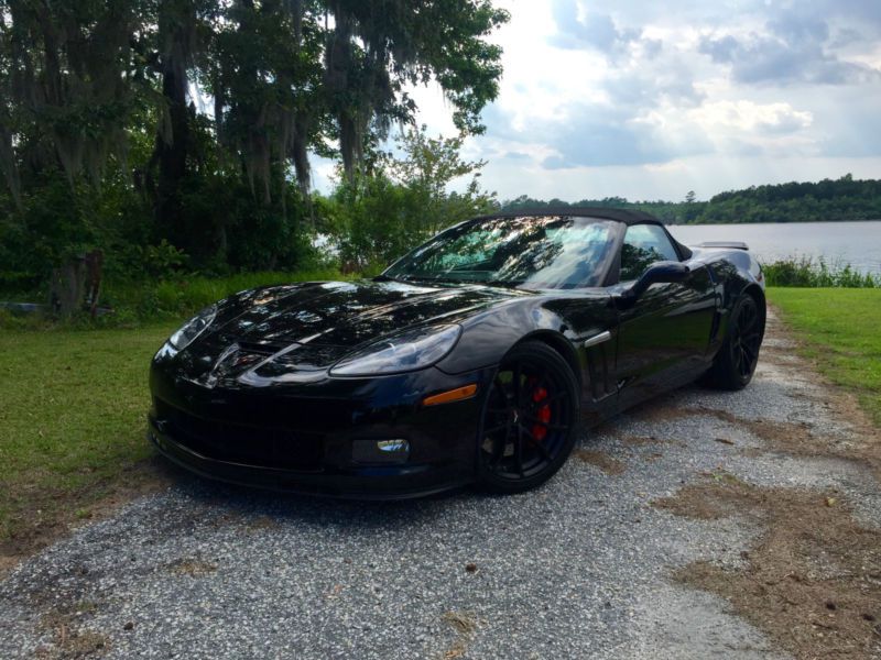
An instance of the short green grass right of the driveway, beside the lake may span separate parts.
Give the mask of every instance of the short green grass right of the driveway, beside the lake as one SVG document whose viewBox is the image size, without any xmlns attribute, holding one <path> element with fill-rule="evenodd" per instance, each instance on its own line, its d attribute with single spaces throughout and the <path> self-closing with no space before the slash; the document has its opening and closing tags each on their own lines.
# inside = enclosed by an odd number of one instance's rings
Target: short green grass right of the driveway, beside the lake
<svg viewBox="0 0 881 660">
<path fill-rule="evenodd" d="M 768 299 L 830 381 L 881 426 L 881 288 L 770 288 Z"/>
</svg>

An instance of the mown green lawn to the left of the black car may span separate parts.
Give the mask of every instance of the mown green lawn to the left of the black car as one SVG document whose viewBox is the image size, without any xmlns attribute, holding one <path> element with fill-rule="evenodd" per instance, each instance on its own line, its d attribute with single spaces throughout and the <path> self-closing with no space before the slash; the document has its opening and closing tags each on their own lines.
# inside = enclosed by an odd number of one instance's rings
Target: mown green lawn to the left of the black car
<svg viewBox="0 0 881 660">
<path fill-rule="evenodd" d="M 6 557 L 155 479 L 144 439 L 150 359 L 176 323 L 0 330 L 0 549 Z"/>
</svg>

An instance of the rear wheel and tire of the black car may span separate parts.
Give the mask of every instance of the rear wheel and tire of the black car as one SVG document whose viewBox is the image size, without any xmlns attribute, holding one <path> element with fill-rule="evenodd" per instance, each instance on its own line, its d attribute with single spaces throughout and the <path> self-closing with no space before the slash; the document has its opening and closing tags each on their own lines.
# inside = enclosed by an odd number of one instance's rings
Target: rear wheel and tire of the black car
<svg viewBox="0 0 881 660">
<path fill-rule="evenodd" d="M 764 336 L 764 315 L 755 298 L 743 294 L 735 302 L 728 332 L 707 372 L 706 382 L 718 389 L 743 389 L 755 373 Z"/>
</svg>

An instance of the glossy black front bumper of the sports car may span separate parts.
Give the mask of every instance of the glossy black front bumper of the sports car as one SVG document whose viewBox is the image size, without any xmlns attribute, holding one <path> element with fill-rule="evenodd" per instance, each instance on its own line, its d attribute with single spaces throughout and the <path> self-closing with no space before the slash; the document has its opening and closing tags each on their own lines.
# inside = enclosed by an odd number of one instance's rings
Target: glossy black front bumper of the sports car
<svg viewBox="0 0 881 660">
<path fill-rule="evenodd" d="M 474 482 L 482 383 L 490 372 L 438 370 L 301 392 L 206 389 L 154 369 L 148 438 L 203 476 L 275 491 L 398 499 Z M 471 399 L 422 407 L 423 396 L 478 382 Z M 346 393 L 340 387 L 348 387 Z M 231 432 L 230 429 L 235 429 Z M 409 459 L 361 464 L 355 441 L 402 438 Z"/>
</svg>

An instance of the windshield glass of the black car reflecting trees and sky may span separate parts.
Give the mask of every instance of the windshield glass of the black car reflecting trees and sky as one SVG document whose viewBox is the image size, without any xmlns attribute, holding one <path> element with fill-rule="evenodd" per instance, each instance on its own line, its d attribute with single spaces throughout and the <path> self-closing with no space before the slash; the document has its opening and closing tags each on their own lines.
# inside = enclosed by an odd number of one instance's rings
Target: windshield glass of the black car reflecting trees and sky
<svg viewBox="0 0 881 660">
<path fill-rule="evenodd" d="M 614 256 L 616 224 L 561 216 L 466 222 L 437 234 L 383 276 L 529 289 L 599 286 Z"/>
</svg>

